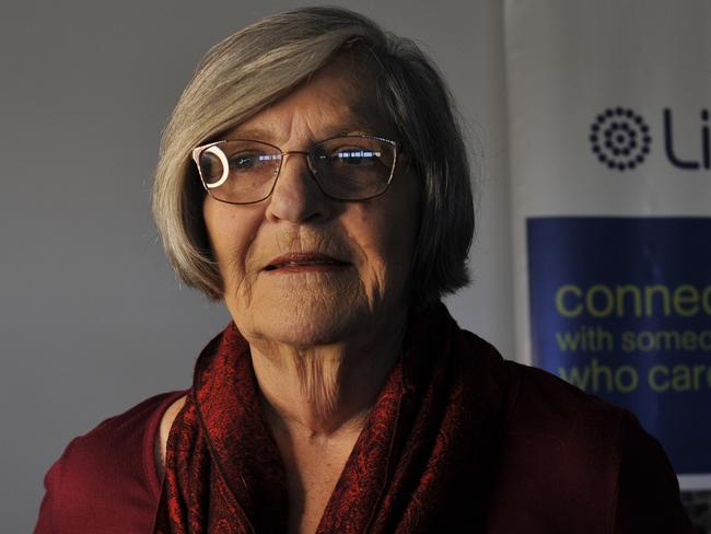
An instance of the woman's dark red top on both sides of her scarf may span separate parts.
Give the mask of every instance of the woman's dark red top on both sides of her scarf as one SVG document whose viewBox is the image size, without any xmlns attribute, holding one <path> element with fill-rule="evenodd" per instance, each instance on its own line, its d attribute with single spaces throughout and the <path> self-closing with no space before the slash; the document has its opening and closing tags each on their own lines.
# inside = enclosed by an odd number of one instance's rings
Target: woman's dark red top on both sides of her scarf
<svg viewBox="0 0 711 534">
<path fill-rule="evenodd" d="M 499 474 L 487 533 L 692 532 L 668 460 L 630 413 L 544 371 L 499 364 L 509 408 L 502 454 L 490 460 Z M 69 443 L 45 477 L 35 533 L 152 532 L 158 429 L 185 393 L 151 397 Z"/>
</svg>

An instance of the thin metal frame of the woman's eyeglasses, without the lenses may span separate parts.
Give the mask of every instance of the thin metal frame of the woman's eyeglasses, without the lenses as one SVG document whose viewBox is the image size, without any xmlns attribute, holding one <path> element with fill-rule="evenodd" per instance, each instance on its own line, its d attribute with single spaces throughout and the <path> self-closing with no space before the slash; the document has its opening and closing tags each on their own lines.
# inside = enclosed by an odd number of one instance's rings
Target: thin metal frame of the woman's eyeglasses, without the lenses
<svg viewBox="0 0 711 534">
<path fill-rule="evenodd" d="M 306 167 L 308 169 L 308 174 L 311 175 L 313 181 L 316 183 L 316 186 L 318 187 L 318 190 L 320 193 L 323 193 L 326 197 L 328 197 L 328 198 L 330 198 L 333 200 L 338 200 L 338 201 L 341 201 L 341 202 L 361 202 L 361 201 L 364 201 L 364 200 L 371 200 L 373 198 L 377 198 L 381 195 L 385 195 L 385 193 L 387 193 L 387 189 L 389 189 L 389 187 L 391 187 L 391 183 L 393 182 L 393 177 L 395 176 L 395 170 L 397 169 L 397 156 L 398 156 L 398 151 L 399 151 L 399 143 L 397 141 L 393 141 L 391 139 L 386 139 L 386 138 L 380 137 L 380 136 L 357 135 L 357 136 L 335 136 L 335 137 L 329 137 L 328 139 L 323 139 L 320 141 L 316 141 L 316 142 L 312 143 L 311 147 L 313 148 L 316 144 L 320 144 L 320 143 L 324 143 L 324 142 L 327 142 L 327 141 L 331 141 L 334 139 L 349 139 L 349 138 L 375 139 L 377 141 L 384 141 L 384 142 L 386 142 L 386 143 L 388 143 L 388 144 L 391 144 L 393 147 L 393 165 L 391 167 L 391 175 L 387 177 L 387 183 L 385 184 L 385 188 L 381 193 L 378 193 L 377 195 L 372 195 L 372 196 L 365 197 L 365 198 L 352 198 L 352 199 L 334 197 L 333 195 L 329 195 L 328 193 L 326 193 L 324 190 L 323 186 L 320 185 L 320 183 L 318 182 L 318 178 L 316 177 L 316 175 L 318 173 L 314 170 L 313 163 L 312 163 L 311 158 L 310 158 L 310 151 L 307 151 L 307 150 L 306 151 L 304 151 L 304 150 L 283 151 L 283 150 L 281 150 L 280 147 L 277 147 L 276 144 L 272 144 L 272 143 L 266 142 L 266 141 L 259 141 L 257 139 L 221 139 L 219 141 L 209 142 L 207 144 L 200 144 L 200 146 L 195 147 L 193 149 L 191 158 L 193 158 L 193 161 L 195 162 L 195 165 L 198 167 L 198 175 L 200 176 L 200 182 L 202 183 L 202 187 L 205 188 L 207 194 L 210 195 L 212 198 L 214 198 L 219 202 L 231 204 L 231 205 L 234 205 L 234 206 L 248 206 L 248 205 L 252 205 L 252 204 L 261 202 L 261 201 L 266 200 L 267 198 L 269 198 L 271 196 L 271 194 L 273 193 L 275 188 L 277 187 L 277 182 L 279 181 L 279 176 L 281 175 L 281 167 L 283 166 L 283 163 L 284 163 L 284 156 L 290 155 L 290 154 L 303 154 L 303 155 L 306 156 Z M 264 196 L 263 198 L 260 198 L 259 200 L 250 200 L 248 202 L 233 202 L 233 201 L 230 201 L 230 200 L 222 200 L 222 199 L 215 197 L 214 195 L 212 195 L 212 193 L 210 191 L 210 187 L 205 182 L 205 178 L 202 176 L 202 170 L 200 169 L 200 156 L 202 155 L 202 153 L 206 150 L 210 149 L 211 147 L 215 147 L 215 146 L 218 146 L 220 143 L 223 143 L 223 142 L 232 142 L 232 141 L 256 142 L 256 143 L 260 143 L 260 144 L 266 144 L 266 146 L 271 147 L 273 149 L 277 149 L 279 151 L 279 154 L 280 154 L 280 156 L 279 156 L 279 167 L 277 169 L 277 172 L 275 173 L 273 182 L 271 183 L 271 188 L 269 189 L 269 193 L 267 193 L 267 195 Z M 229 170 L 228 170 L 228 173 L 229 173 Z"/>
</svg>

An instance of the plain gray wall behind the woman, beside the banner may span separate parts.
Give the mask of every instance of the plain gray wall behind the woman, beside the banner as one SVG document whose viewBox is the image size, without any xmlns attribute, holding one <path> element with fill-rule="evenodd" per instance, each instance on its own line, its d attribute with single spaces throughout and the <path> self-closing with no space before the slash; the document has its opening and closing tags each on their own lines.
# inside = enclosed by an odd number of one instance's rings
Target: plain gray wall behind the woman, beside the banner
<svg viewBox="0 0 711 534">
<path fill-rule="evenodd" d="M 180 288 L 149 210 L 160 132 L 209 46 L 319 2 L 3 4 L 0 16 L 0 530 L 30 532 L 42 479 L 74 436 L 190 384 L 223 306 Z M 513 358 L 501 7 L 354 8 L 418 40 L 450 81 L 480 155 L 476 282 L 448 300 Z"/>
</svg>

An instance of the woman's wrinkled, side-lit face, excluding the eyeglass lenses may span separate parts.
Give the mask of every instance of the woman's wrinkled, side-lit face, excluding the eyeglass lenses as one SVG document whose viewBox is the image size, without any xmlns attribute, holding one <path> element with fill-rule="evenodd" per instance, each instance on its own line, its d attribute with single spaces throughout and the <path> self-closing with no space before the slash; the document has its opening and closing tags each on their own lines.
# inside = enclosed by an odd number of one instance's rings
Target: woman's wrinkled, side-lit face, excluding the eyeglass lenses
<svg viewBox="0 0 711 534">
<path fill-rule="evenodd" d="M 346 59 L 331 61 L 224 138 L 284 152 L 341 135 L 394 139 L 372 79 L 357 70 Z M 403 161 L 385 194 L 339 201 L 320 191 L 302 154 L 285 156 L 266 200 L 235 206 L 207 196 L 224 299 L 242 334 L 249 343 L 306 348 L 384 327 L 406 307 L 418 206 L 418 179 Z"/>
</svg>

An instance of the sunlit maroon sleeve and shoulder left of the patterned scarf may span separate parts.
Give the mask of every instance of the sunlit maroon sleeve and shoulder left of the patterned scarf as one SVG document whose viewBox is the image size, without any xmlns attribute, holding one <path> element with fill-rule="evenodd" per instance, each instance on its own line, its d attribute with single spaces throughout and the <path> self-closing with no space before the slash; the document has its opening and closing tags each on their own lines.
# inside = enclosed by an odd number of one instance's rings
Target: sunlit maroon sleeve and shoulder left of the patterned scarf
<svg viewBox="0 0 711 534">
<path fill-rule="evenodd" d="M 149 532 L 160 494 L 155 434 L 183 394 L 151 397 L 72 440 L 45 476 L 35 534 Z"/>
</svg>

